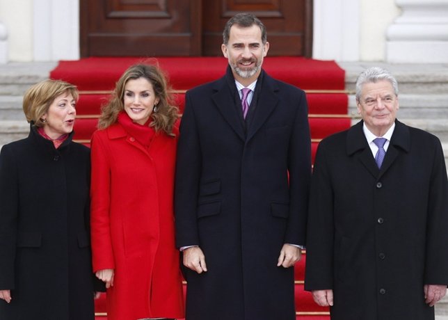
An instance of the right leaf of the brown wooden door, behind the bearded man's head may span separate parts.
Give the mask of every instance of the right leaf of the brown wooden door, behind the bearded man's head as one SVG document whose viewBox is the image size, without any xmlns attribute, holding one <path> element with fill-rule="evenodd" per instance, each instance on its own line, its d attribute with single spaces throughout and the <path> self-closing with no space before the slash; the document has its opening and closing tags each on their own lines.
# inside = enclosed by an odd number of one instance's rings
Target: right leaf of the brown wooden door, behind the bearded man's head
<svg viewBox="0 0 448 320">
<path fill-rule="evenodd" d="M 312 0 L 205 1 L 202 54 L 220 56 L 225 23 L 235 13 L 250 12 L 266 26 L 269 56 L 312 54 Z"/>
</svg>

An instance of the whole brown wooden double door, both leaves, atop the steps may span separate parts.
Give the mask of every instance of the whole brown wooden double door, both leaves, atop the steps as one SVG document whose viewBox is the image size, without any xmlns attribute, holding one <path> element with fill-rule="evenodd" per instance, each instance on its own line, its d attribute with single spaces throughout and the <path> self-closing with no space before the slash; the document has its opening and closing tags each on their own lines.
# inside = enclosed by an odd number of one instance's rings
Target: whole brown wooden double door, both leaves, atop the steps
<svg viewBox="0 0 448 320">
<path fill-rule="evenodd" d="M 311 56 L 312 0 L 80 0 L 81 57 L 221 56 L 238 12 L 266 25 L 269 56 Z"/>
</svg>

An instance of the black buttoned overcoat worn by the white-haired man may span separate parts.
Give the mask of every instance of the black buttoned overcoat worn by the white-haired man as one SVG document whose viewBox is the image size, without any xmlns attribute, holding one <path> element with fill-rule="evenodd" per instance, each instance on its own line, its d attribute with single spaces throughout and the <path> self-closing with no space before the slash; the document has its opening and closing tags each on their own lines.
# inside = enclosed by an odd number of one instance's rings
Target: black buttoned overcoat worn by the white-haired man
<svg viewBox="0 0 448 320">
<path fill-rule="evenodd" d="M 333 289 L 332 320 L 427 320 L 448 283 L 448 187 L 437 137 L 396 120 L 378 169 L 363 122 L 319 144 L 305 289 Z"/>
</svg>

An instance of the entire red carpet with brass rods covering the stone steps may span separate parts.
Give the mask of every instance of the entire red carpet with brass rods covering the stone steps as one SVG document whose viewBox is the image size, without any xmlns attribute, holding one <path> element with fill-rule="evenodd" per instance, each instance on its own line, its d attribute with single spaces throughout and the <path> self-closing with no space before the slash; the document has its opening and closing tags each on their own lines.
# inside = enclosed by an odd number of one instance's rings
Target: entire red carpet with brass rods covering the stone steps
<svg viewBox="0 0 448 320">
<path fill-rule="evenodd" d="M 129 65 L 159 63 L 170 79 L 175 101 L 184 108 L 185 90 L 223 76 L 227 60 L 221 57 L 186 58 L 85 58 L 61 61 L 51 72 L 53 79 L 74 83 L 81 90 L 77 104 L 75 140 L 90 144 L 90 136 L 97 125 L 99 107 L 107 101 L 110 90 Z M 307 92 L 309 105 L 312 155 L 322 138 L 347 129 L 351 119 L 347 115 L 348 97 L 344 92 L 345 72 L 334 61 L 316 61 L 301 57 L 267 57 L 264 69 L 272 77 L 298 86 Z M 305 255 L 296 264 L 296 319 L 328 320 L 328 308 L 319 307 L 310 292 L 303 290 Z M 184 285 L 185 286 L 185 285 Z M 106 295 L 95 301 L 96 320 L 106 320 Z M 256 319 L 254 319 L 256 320 Z"/>
</svg>

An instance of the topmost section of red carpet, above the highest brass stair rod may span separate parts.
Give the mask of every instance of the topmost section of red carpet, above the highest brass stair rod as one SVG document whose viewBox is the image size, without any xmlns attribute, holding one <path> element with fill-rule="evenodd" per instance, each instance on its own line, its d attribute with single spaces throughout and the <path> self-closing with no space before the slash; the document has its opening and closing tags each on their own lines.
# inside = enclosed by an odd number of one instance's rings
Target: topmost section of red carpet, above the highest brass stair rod
<svg viewBox="0 0 448 320">
<path fill-rule="evenodd" d="M 223 76 L 227 66 L 227 60 L 223 57 L 90 57 L 79 61 L 61 61 L 50 77 L 75 83 L 79 90 L 111 90 L 122 72 L 138 62 L 158 62 L 176 90 L 186 90 L 216 80 Z M 272 77 L 303 90 L 344 90 L 344 70 L 334 61 L 268 56 L 263 67 Z"/>
</svg>

